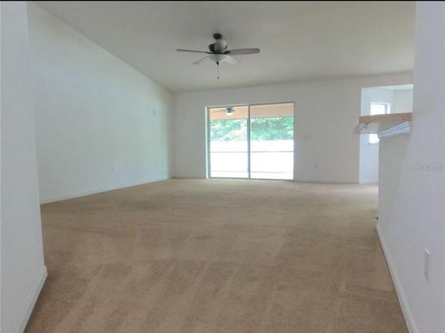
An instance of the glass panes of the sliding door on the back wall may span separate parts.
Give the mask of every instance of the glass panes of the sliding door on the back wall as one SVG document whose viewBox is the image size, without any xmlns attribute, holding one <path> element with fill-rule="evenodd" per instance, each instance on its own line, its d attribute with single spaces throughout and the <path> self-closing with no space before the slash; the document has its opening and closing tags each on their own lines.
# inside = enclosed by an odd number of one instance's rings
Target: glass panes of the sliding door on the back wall
<svg viewBox="0 0 445 333">
<path fill-rule="evenodd" d="M 209 177 L 293 179 L 293 103 L 208 110 Z"/>
</svg>

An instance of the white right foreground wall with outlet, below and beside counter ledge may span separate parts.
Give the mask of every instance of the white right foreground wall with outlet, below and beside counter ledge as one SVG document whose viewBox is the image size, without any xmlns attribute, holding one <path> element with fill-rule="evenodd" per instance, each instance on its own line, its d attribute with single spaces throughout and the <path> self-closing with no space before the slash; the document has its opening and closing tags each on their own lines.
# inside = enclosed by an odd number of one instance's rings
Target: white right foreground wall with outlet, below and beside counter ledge
<svg viewBox="0 0 445 333">
<path fill-rule="evenodd" d="M 412 133 L 380 140 L 378 230 L 413 333 L 445 332 L 445 172 L 410 166 L 445 162 L 444 18 L 444 2 L 416 4 Z"/>
</svg>

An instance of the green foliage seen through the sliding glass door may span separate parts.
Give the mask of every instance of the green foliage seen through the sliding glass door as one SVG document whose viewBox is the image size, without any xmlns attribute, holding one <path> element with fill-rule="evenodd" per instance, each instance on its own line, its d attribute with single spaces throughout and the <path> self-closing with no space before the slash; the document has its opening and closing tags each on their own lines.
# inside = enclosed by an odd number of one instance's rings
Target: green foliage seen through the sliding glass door
<svg viewBox="0 0 445 333">
<path fill-rule="evenodd" d="M 211 120 L 211 141 L 247 140 L 247 119 Z M 292 140 L 293 117 L 252 118 L 250 140 Z"/>
</svg>

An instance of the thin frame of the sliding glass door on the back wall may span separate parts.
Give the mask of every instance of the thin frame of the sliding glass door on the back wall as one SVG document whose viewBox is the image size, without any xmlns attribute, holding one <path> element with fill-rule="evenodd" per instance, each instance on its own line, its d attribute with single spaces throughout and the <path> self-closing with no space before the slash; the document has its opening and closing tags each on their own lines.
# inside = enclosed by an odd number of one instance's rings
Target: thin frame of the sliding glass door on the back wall
<svg viewBox="0 0 445 333">
<path fill-rule="evenodd" d="M 248 177 L 244 178 L 244 177 L 240 177 L 237 179 L 252 179 L 251 178 L 251 170 L 250 170 L 250 121 L 252 120 L 252 118 L 250 117 L 250 109 L 252 106 L 259 106 L 259 105 L 275 105 L 275 104 L 292 104 L 293 106 L 293 111 L 292 111 L 292 117 L 293 117 L 293 164 L 294 164 L 294 170 L 295 170 L 295 101 L 271 101 L 268 103 L 248 103 L 248 104 L 230 104 L 230 105 L 219 105 L 219 106 L 207 106 L 205 108 L 205 116 L 206 116 L 206 161 L 207 161 L 207 178 L 212 178 L 211 177 L 211 151 L 210 151 L 210 110 L 212 108 L 227 108 L 227 107 L 232 107 L 232 108 L 236 108 L 237 106 L 247 106 L 248 107 L 248 124 L 247 124 L 247 140 L 248 140 Z M 293 179 L 295 179 L 295 174 L 293 173 Z M 221 178 L 224 179 L 226 177 L 215 177 L 215 178 Z M 228 178 L 228 177 L 227 177 Z M 255 179 L 259 179 L 259 178 L 255 178 Z M 293 181 L 293 179 L 287 179 L 290 181 Z M 274 179 L 267 179 L 267 180 L 274 180 Z M 286 180 L 286 179 L 280 179 L 280 180 Z"/>
</svg>

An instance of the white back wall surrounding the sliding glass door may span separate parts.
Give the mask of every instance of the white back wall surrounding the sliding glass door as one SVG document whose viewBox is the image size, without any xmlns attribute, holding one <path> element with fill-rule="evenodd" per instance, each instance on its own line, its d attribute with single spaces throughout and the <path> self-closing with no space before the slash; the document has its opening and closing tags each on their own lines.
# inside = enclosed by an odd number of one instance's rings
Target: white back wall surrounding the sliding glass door
<svg viewBox="0 0 445 333">
<path fill-rule="evenodd" d="M 412 73 L 176 94 L 174 175 L 206 177 L 206 106 L 295 101 L 294 178 L 357 183 L 362 88 L 405 83 Z"/>
</svg>

